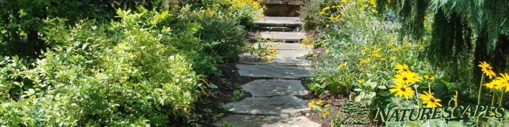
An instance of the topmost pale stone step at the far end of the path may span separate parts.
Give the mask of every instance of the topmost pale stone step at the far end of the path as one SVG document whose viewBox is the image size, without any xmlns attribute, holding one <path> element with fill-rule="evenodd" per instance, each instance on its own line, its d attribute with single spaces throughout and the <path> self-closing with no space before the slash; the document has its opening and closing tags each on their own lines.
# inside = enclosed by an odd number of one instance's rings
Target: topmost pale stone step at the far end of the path
<svg viewBox="0 0 509 127">
<path fill-rule="evenodd" d="M 300 26 L 302 22 L 299 17 L 271 17 L 265 16 L 264 20 L 255 20 L 254 24 L 259 26 Z"/>
</svg>

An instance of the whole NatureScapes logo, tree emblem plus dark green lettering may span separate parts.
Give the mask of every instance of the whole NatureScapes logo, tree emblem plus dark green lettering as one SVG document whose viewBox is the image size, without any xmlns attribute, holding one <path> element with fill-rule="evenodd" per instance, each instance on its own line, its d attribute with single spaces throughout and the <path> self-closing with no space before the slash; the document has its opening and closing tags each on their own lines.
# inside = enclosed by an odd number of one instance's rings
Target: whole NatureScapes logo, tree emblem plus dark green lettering
<svg viewBox="0 0 509 127">
<path fill-rule="evenodd" d="M 401 122 L 464 117 L 501 119 L 505 117 L 505 112 L 506 109 L 504 107 L 487 105 L 462 105 L 421 109 L 384 109 L 379 107 L 377 108 L 374 120 Z M 340 109 L 340 113 L 344 113 L 346 117 L 340 122 L 334 123 L 335 125 L 371 125 L 367 116 L 370 110 L 358 102 L 345 102 Z"/>
</svg>

